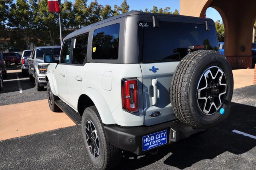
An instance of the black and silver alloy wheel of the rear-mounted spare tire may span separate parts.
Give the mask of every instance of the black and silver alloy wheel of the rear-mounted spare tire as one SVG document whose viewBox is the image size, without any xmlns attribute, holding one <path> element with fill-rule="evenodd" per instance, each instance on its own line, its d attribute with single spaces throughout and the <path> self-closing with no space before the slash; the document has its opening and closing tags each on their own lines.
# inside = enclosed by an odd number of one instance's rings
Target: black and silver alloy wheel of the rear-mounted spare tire
<svg viewBox="0 0 256 170">
<path fill-rule="evenodd" d="M 200 77 L 197 86 L 197 102 L 200 110 L 206 115 L 215 114 L 226 98 L 227 82 L 224 72 L 212 66 Z"/>
</svg>

